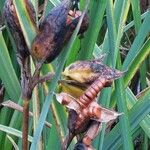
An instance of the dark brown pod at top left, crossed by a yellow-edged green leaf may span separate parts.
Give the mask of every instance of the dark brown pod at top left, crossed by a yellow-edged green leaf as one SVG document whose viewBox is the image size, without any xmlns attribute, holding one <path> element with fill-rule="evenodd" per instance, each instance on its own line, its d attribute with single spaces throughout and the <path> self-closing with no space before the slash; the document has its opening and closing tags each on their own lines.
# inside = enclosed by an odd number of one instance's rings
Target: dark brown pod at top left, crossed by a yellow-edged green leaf
<svg viewBox="0 0 150 150">
<path fill-rule="evenodd" d="M 29 12 L 32 22 L 35 23 L 35 17 L 34 17 L 35 12 L 30 1 L 26 2 L 26 8 Z M 18 57 L 25 58 L 29 56 L 30 54 L 29 49 L 27 47 L 27 44 L 25 42 L 21 27 L 19 24 L 19 20 L 16 14 L 15 6 L 13 4 L 13 0 L 5 1 L 3 13 L 4 13 L 6 23 L 16 43 Z"/>
</svg>

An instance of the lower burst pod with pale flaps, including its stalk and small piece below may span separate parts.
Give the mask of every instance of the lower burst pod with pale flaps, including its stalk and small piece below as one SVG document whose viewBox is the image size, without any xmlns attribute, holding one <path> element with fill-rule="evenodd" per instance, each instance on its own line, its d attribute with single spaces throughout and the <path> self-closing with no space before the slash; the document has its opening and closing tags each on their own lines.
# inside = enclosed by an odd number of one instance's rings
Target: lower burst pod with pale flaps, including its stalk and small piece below
<svg viewBox="0 0 150 150">
<path fill-rule="evenodd" d="M 75 98 L 66 93 L 56 94 L 56 99 L 69 108 L 69 135 L 63 143 L 63 150 L 68 147 L 74 136 L 81 133 L 86 133 L 82 141 L 87 148 L 90 148 L 92 140 L 99 132 L 97 125 L 101 122 L 108 123 L 122 115 L 122 113 L 101 107 L 96 101 L 83 108 Z M 96 125 L 92 125 L 93 121 L 96 122 Z"/>
</svg>

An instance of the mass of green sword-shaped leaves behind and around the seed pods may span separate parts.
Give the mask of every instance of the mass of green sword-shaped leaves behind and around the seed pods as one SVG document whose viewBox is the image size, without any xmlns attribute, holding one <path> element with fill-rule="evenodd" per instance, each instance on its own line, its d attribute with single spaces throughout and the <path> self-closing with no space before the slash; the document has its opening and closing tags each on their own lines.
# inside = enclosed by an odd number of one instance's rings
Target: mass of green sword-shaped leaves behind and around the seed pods
<svg viewBox="0 0 150 150">
<path fill-rule="evenodd" d="M 0 102 L 11 100 L 21 105 L 20 69 L 16 60 L 15 43 L 4 23 L 2 9 L 5 0 L 0 1 L 0 87 L 4 86 L 4 98 Z M 24 1 L 14 0 L 18 14 L 24 12 Z M 38 2 L 40 7 L 38 7 Z M 45 13 L 57 5 L 59 0 L 32 0 L 36 18 L 41 17 L 43 6 Z M 148 1 L 147 1 L 148 2 Z M 86 0 L 81 0 L 84 8 Z M 39 8 L 39 9 L 38 9 Z M 57 88 L 61 71 L 76 60 L 98 58 L 106 54 L 105 64 L 126 71 L 122 79 L 111 88 L 102 91 L 99 103 L 105 107 L 117 108 L 124 112 L 114 124 L 113 129 L 103 129 L 94 140 L 99 150 L 143 149 L 149 147 L 150 138 L 150 12 L 145 0 L 91 0 L 89 4 L 90 27 L 84 38 L 77 37 L 76 31 L 59 57 L 51 64 L 44 65 L 42 74 L 56 72 L 51 83 L 40 84 L 35 88 L 30 110 L 31 149 L 60 149 L 63 137 L 67 133 L 66 109 L 53 100 L 52 92 Z M 25 12 L 24 12 L 25 13 Z M 26 33 L 28 45 L 35 37 L 34 28 L 22 21 L 22 30 Z M 28 23 L 28 25 L 26 25 Z M 29 32 L 30 30 L 30 32 Z M 34 66 L 32 66 L 34 70 Z M 49 93 L 48 93 L 49 91 Z M 48 93 L 48 94 L 47 94 Z M 51 104 L 51 106 L 50 106 Z M 40 120 L 38 121 L 40 117 Z M 49 128 L 45 121 L 52 124 Z M 21 149 L 22 113 L 8 107 L 0 109 L 0 149 Z M 42 136 L 41 136 L 42 135 Z M 41 137 L 41 138 L 40 138 Z M 75 141 L 74 141 L 75 142 Z M 73 149 L 73 144 L 70 146 Z"/>
</svg>

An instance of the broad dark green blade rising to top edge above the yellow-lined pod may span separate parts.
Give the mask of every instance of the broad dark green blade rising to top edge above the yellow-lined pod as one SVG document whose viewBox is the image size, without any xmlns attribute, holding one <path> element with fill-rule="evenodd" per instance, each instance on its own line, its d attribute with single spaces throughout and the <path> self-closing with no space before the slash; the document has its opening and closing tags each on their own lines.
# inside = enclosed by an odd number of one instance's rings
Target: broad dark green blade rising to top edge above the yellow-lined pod
<svg viewBox="0 0 150 150">
<path fill-rule="evenodd" d="M 93 5 L 92 5 L 93 4 Z M 79 60 L 81 59 L 90 59 L 93 54 L 93 49 L 98 37 L 99 30 L 102 25 L 102 20 L 104 17 L 104 12 L 106 9 L 106 0 L 92 1 L 91 5 L 91 20 L 89 29 L 85 35 L 85 39 L 83 40 L 83 47 L 79 53 Z M 88 43 L 88 44 L 87 44 Z M 85 51 L 87 51 L 85 53 Z"/>
</svg>

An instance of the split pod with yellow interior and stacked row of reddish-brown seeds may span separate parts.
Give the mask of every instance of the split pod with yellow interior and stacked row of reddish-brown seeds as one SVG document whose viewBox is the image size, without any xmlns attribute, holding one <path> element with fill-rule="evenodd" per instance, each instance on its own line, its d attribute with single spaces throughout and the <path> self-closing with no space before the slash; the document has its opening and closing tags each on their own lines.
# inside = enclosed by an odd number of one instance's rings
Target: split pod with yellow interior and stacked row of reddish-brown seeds
<svg viewBox="0 0 150 150">
<path fill-rule="evenodd" d="M 62 74 L 66 79 L 60 82 L 61 90 L 78 98 L 85 107 L 103 87 L 110 86 L 113 80 L 121 77 L 124 72 L 104 65 L 100 58 L 77 61 L 68 66 Z"/>
</svg>

